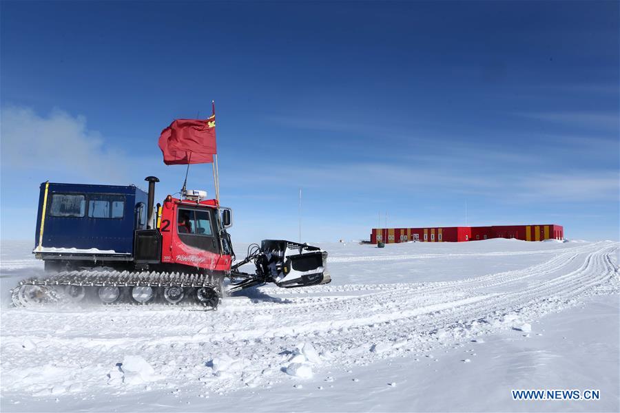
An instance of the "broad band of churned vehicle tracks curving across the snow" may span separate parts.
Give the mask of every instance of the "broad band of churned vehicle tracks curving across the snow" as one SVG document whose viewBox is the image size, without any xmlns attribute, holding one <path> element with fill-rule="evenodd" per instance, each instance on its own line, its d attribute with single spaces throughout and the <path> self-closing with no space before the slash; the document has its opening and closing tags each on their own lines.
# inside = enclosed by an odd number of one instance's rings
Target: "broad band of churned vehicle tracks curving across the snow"
<svg viewBox="0 0 620 413">
<path fill-rule="evenodd" d="M 10 361 L 3 357 L 2 370 L 8 371 L 10 377 L 16 366 L 23 363 L 45 365 L 50 362 L 45 359 L 49 354 L 59 354 L 54 362 L 60 363 L 60 354 L 76 354 L 72 363 L 90 366 L 92 370 L 81 373 L 85 374 L 80 376 L 85 390 L 101 390 L 98 375 L 105 374 L 110 363 L 121 361 L 124 354 L 136 352 L 154 363 L 174 385 L 192 388 L 192 383 L 202 380 L 204 390 L 219 391 L 279 381 L 280 367 L 285 366 L 289 357 L 282 352 L 293 350 L 297 341 L 309 341 L 318 349 L 331 352 L 329 363 L 340 366 L 371 363 L 406 352 L 415 354 L 510 328 L 502 321 L 506 316 L 536 319 L 589 294 L 617 293 L 617 244 L 590 244 L 577 249 L 554 251 L 555 257 L 547 262 L 523 270 L 455 282 L 349 286 L 348 291 L 357 295 L 300 295 L 285 299 L 289 302 L 259 301 L 249 306 L 244 302 L 224 306 L 217 313 L 95 310 L 86 315 L 60 313 L 59 319 L 48 320 L 45 312 L 11 311 L 14 317 L 10 318 L 12 324 L 8 328 L 8 317 L 2 315 L 1 346 L 3 354 L 10 350 L 12 355 Z M 524 282 L 526 286 L 521 287 Z M 309 293 L 337 291 L 338 288 L 314 288 Z M 72 330 L 53 330 L 74 316 L 78 324 L 75 330 L 92 330 L 90 337 L 73 334 Z M 93 317 L 97 319 L 96 326 L 89 330 L 85 325 L 93 324 Z M 45 325 L 37 326 L 42 319 L 46 320 Z M 151 331 L 149 322 L 161 330 Z M 14 351 L 23 343 L 23 332 L 29 329 L 27 336 L 37 341 L 41 354 L 19 349 L 24 354 L 15 356 Z M 47 341 L 45 337 L 50 333 L 54 338 Z M 378 342 L 388 343 L 388 350 L 370 352 L 370 346 Z M 227 379 L 212 376 L 205 361 L 222 353 L 245 360 L 245 367 L 232 372 Z M 103 367 L 93 368 L 94 360 Z M 320 366 L 317 371 L 320 372 Z M 158 385 L 154 383 L 153 388 Z M 30 391 L 19 381 L 3 380 L 2 386 L 3 391 Z M 161 384 L 161 388 L 166 385 Z"/>
</svg>

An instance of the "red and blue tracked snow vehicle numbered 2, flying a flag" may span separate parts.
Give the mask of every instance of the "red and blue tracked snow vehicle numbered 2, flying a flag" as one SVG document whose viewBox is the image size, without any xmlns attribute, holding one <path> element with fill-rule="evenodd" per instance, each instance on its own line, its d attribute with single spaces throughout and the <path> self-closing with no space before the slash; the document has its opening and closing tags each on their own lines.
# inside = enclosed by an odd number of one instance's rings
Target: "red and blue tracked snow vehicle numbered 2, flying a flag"
<svg viewBox="0 0 620 413">
<path fill-rule="evenodd" d="M 192 121 L 209 125 L 206 122 L 211 119 L 214 116 Z M 165 132 L 171 128 L 174 132 L 177 122 L 163 131 L 160 147 Z M 214 120 L 212 125 L 214 129 Z M 183 126 L 177 129 L 187 132 Z M 166 161 L 164 149 L 170 149 L 162 148 Z M 189 153 L 185 162 L 176 162 L 187 164 L 188 171 L 190 163 L 198 163 L 189 157 L 200 160 L 204 155 L 194 156 L 200 148 L 192 149 L 194 153 L 185 151 L 186 156 Z M 207 150 L 211 151 L 207 155 L 214 154 L 214 149 Z M 13 304 L 87 300 L 200 304 L 215 309 L 226 291 L 270 282 L 292 288 L 331 281 L 325 268 L 327 252 L 297 242 L 263 240 L 249 246 L 247 257 L 235 262 L 227 232 L 232 211 L 220 207 L 216 162 L 215 199 L 207 199 L 206 191 L 188 191 L 186 173 L 180 198 L 167 195 L 154 204 L 159 180 L 154 176 L 145 180 L 148 192 L 134 185 L 43 182 L 33 253 L 45 263 L 45 276 L 22 280 L 12 290 Z M 241 266 L 251 263 L 254 273 L 241 271 Z M 226 290 L 225 278 L 230 281 Z"/>
</svg>

